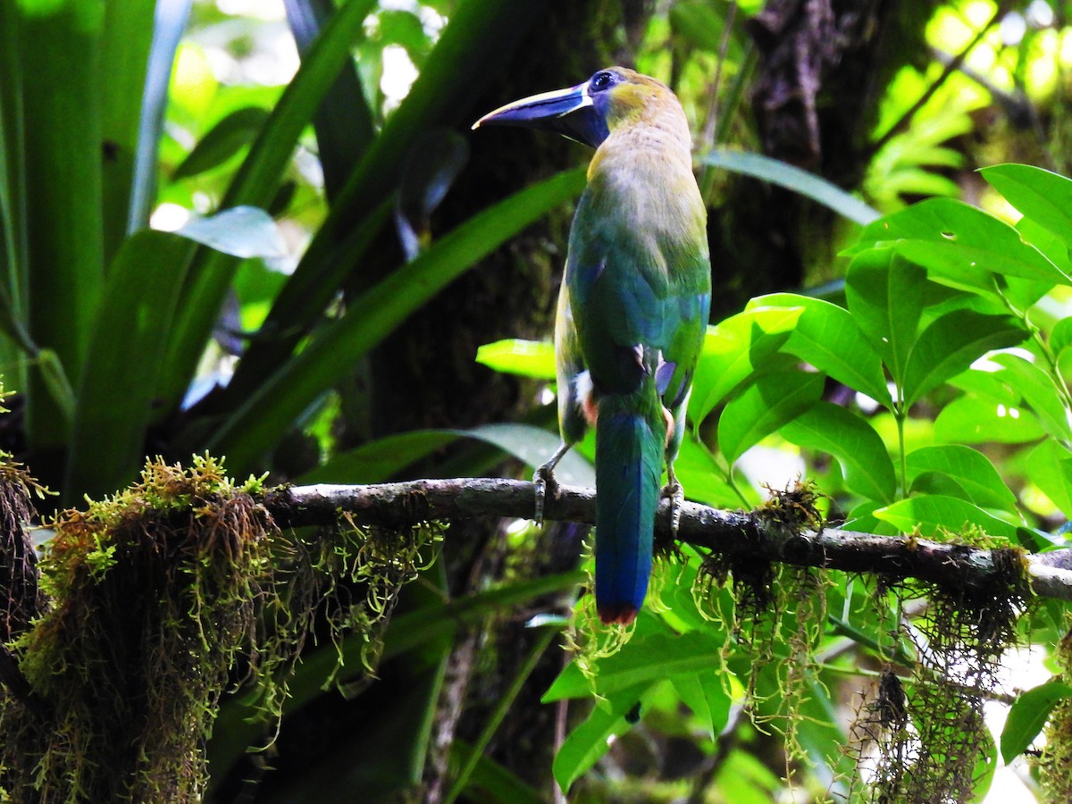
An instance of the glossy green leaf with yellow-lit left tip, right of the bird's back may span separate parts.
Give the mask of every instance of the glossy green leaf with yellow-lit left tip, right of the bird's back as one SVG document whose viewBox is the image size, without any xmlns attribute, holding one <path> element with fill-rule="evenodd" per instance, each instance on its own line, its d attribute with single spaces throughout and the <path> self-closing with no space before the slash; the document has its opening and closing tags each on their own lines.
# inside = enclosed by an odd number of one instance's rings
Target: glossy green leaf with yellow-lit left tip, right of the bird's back
<svg viewBox="0 0 1072 804">
<path fill-rule="evenodd" d="M 796 355 L 880 404 L 892 406 L 881 359 L 848 310 L 822 299 L 791 293 L 760 296 L 749 301 L 745 309 L 753 307 L 804 308 L 781 351 Z"/>
</svg>

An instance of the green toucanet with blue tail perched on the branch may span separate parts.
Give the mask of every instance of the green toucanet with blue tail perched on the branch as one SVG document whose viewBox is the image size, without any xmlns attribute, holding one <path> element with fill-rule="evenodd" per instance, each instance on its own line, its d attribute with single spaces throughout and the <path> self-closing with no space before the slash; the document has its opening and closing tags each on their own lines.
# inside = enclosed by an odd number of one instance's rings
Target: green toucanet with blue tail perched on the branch
<svg viewBox="0 0 1072 804">
<path fill-rule="evenodd" d="M 569 233 L 555 314 L 562 445 L 535 474 L 536 521 L 554 467 L 596 432 L 596 611 L 629 625 L 647 593 L 655 512 L 684 491 L 673 463 L 711 307 L 706 208 L 681 102 L 623 66 L 508 103 L 473 124 L 550 130 L 595 148 Z M 667 485 L 661 485 L 666 467 Z"/>
</svg>

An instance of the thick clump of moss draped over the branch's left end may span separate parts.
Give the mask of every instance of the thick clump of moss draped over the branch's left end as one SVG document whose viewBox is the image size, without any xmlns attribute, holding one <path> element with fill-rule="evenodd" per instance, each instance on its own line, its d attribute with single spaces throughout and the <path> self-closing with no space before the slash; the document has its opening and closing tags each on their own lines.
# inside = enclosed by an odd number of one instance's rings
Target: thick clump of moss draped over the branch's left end
<svg viewBox="0 0 1072 804">
<path fill-rule="evenodd" d="M 359 630 L 373 664 L 378 626 L 437 531 L 388 539 L 343 522 L 299 538 L 274 526 L 262 492 L 208 457 L 189 470 L 158 460 L 129 490 L 57 518 L 41 563 L 53 608 L 13 645 L 38 703 L 0 699 L 0 788 L 14 800 L 198 801 L 220 696 L 250 684 L 278 716 L 318 613 L 332 638 Z"/>
</svg>

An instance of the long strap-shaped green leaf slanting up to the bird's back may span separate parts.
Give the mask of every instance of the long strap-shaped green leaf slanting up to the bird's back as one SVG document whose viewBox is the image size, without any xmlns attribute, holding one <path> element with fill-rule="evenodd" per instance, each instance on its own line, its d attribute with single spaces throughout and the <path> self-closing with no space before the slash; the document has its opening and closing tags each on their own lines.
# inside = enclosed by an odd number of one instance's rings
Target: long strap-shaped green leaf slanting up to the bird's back
<svg viewBox="0 0 1072 804">
<path fill-rule="evenodd" d="M 474 215 L 417 259 L 354 299 L 346 314 L 245 398 L 209 448 L 226 455 L 236 475 L 248 471 L 319 393 L 414 310 L 485 255 L 579 192 L 582 172 L 552 176 Z"/>
</svg>

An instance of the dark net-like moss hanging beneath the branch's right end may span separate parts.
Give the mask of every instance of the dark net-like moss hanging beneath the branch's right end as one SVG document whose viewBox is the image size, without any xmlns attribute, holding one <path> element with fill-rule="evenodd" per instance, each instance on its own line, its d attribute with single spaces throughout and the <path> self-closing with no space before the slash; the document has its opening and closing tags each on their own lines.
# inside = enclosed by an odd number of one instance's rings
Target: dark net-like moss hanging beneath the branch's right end
<svg viewBox="0 0 1072 804">
<path fill-rule="evenodd" d="M 1019 554 L 995 550 L 998 572 L 986 589 L 899 584 L 900 600 L 922 598 L 911 627 L 897 626 L 915 661 L 910 678 L 892 665 L 879 674 L 853 724 L 863 800 L 882 804 L 971 801 L 993 772 L 994 742 L 983 702 L 998 690 L 1002 655 L 1016 644 L 1026 608 Z M 879 584 L 884 599 L 889 587 Z M 876 604 L 883 607 L 882 600 Z"/>
</svg>

